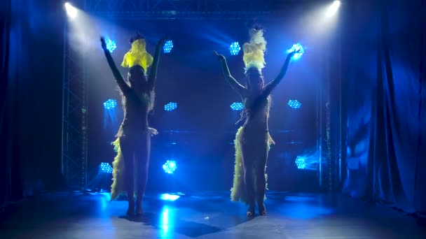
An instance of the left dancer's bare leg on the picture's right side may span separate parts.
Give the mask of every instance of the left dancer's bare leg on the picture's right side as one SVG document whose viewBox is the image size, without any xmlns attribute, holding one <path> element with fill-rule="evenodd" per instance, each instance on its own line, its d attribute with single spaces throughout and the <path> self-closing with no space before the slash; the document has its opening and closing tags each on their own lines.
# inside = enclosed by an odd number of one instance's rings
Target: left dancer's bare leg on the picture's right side
<svg viewBox="0 0 426 239">
<path fill-rule="evenodd" d="M 142 199 L 144 197 L 146 182 L 148 180 L 149 170 L 149 156 L 151 152 L 151 134 L 146 133 L 139 141 L 139 147 L 136 152 L 137 160 L 137 198 L 136 198 L 136 213 L 142 215 L 144 210 L 142 208 Z"/>
</svg>

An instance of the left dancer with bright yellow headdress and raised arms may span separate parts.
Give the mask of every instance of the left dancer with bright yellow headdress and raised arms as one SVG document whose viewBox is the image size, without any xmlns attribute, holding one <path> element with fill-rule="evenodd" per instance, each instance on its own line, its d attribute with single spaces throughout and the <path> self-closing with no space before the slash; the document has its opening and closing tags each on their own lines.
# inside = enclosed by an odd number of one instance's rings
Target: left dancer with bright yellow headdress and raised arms
<svg viewBox="0 0 426 239">
<path fill-rule="evenodd" d="M 121 89 L 124 119 L 113 143 L 117 156 L 114 158 L 111 200 L 127 192 L 128 215 L 142 215 L 142 197 L 146 187 L 151 150 L 151 136 L 157 134 L 149 128 L 148 114 L 153 109 L 154 88 L 157 77 L 158 60 L 164 40 L 158 41 L 154 57 L 146 52 L 146 43 L 139 34 L 130 40 L 132 48 L 124 56 L 121 66 L 130 68 L 127 82 L 114 63 L 104 38 L 102 48 L 109 67 Z M 146 74 L 152 65 L 149 75 Z M 136 205 L 135 205 L 136 191 Z M 136 208 L 135 208 L 136 206 Z M 136 212 L 135 212 L 136 211 Z"/>
</svg>

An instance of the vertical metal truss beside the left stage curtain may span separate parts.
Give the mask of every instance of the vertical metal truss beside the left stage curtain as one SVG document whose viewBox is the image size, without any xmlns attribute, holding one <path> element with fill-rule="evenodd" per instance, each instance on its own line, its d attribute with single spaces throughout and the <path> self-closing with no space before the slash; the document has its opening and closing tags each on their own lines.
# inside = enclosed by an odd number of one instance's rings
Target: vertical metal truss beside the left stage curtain
<svg viewBox="0 0 426 239">
<path fill-rule="evenodd" d="M 88 82 L 83 54 L 70 48 L 64 33 L 62 92 L 62 175 L 69 188 L 82 189 L 87 182 Z"/>
</svg>

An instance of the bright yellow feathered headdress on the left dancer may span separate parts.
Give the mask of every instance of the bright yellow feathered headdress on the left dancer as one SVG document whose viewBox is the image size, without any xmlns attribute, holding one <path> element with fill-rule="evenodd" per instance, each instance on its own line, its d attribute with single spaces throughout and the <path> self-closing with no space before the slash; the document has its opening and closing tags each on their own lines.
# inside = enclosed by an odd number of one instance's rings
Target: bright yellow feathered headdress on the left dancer
<svg viewBox="0 0 426 239">
<path fill-rule="evenodd" d="M 146 72 L 152 64 L 153 57 L 146 52 L 145 39 L 140 34 L 137 34 L 130 39 L 130 44 L 132 44 L 132 48 L 124 55 L 121 66 L 131 68 L 139 65 Z"/>
</svg>

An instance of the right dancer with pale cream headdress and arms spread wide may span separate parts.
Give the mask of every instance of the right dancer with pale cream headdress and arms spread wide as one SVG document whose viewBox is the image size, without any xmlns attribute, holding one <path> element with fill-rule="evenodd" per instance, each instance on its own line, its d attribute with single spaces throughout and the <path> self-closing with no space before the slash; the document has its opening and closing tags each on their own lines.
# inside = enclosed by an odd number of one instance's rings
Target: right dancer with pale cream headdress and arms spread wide
<svg viewBox="0 0 426 239">
<path fill-rule="evenodd" d="M 266 64 L 264 59 L 266 40 L 263 38 L 263 30 L 251 29 L 250 37 L 249 43 L 245 43 L 242 47 L 246 75 L 245 86 L 233 78 L 225 57 L 214 52 L 221 61 L 226 81 L 240 94 L 244 103 L 242 119 L 245 118 L 245 123 L 238 129 L 235 137 L 235 173 L 231 200 L 247 203 L 249 205 L 247 216 L 254 215 L 256 202 L 259 214 L 267 214 L 263 204 L 266 191 L 265 168 L 270 145 L 274 144 L 268 132 L 270 92 L 284 78 L 290 59 L 296 53 L 291 52 L 287 55 L 280 74 L 275 80 L 265 85 L 262 75 L 262 68 Z"/>
</svg>

